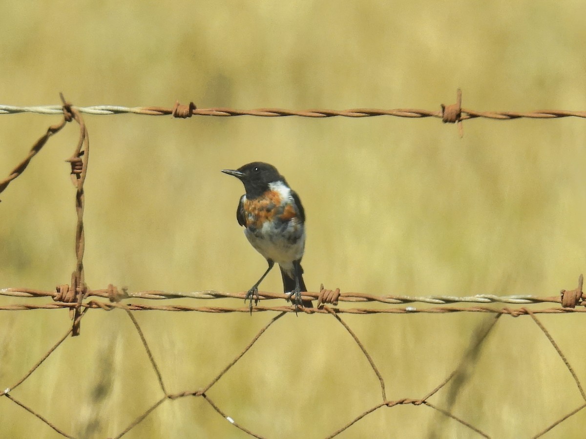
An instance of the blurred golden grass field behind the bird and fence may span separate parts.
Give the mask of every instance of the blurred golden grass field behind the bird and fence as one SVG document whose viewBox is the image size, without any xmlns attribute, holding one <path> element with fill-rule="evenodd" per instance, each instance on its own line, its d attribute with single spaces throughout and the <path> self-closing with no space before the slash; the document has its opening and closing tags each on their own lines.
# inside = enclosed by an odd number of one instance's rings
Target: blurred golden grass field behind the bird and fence
<svg viewBox="0 0 586 439">
<path fill-rule="evenodd" d="M 5 2 L 0 103 L 234 108 L 586 108 L 580 1 Z M 584 120 L 85 115 L 86 281 L 131 291 L 246 290 L 265 268 L 234 217 L 243 188 L 219 171 L 276 165 L 302 197 L 310 290 L 536 294 L 586 265 Z M 0 117 L 0 176 L 60 117 Z M 0 197 L 0 287 L 50 289 L 74 268 L 70 124 Z M 263 290 L 280 291 L 272 273 Z M 2 303 L 24 300 L 2 298 Z M 38 301 L 35 301 L 36 303 Z M 193 305 L 193 302 L 188 302 Z M 226 302 L 223 302 L 226 303 Z M 241 305 L 234 302 L 234 305 Z M 205 386 L 271 315 L 137 312 L 169 392 Z M 486 315 L 343 316 L 389 399 L 418 398 L 456 367 Z M 541 321 L 582 380 L 580 315 Z M 70 325 L 67 311 L 0 312 L 0 386 Z M 4 388 L 3 387 L 3 388 Z M 446 389 L 447 390 L 447 389 Z M 267 437 L 323 437 L 380 400 L 335 319 L 287 315 L 210 389 Z M 448 392 L 433 401 L 447 406 Z M 120 432 L 161 397 L 124 312 L 90 311 L 17 399 L 78 437 Z M 530 318 L 503 317 L 453 413 L 493 437 L 531 436 L 580 394 Z M 6 398 L 3 437 L 59 437 Z M 574 416 L 547 437 L 586 426 Z M 474 437 L 426 407 L 370 414 L 340 437 Z M 244 437 L 198 398 L 166 401 L 127 437 Z"/>
</svg>

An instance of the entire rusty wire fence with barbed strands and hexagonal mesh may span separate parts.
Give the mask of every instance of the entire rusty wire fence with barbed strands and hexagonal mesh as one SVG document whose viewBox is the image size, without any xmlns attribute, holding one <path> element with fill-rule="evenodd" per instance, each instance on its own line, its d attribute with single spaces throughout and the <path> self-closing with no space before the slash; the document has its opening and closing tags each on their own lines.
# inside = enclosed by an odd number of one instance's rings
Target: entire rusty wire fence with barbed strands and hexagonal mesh
<svg viewBox="0 0 586 439">
<path fill-rule="evenodd" d="M 484 117 L 492 118 L 496 120 L 511 120 L 514 118 L 559 118 L 559 117 L 581 117 L 586 118 L 586 111 L 557 111 L 557 110 L 544 110 L 534 111 L 526 113 L 515 113 L 509 111 L 503 112 L 481 112 L 466 110 L 461 107 L 461 93 L 458 90 L 458 98 L 456 104 L 451 106 L 441 106 L 439 111 L 427 111 L 427 110 L 413 110 L 413 109 L 397 109 L 397 110 L 373 110 L 373 109 L 355 109 L 345 111 L 334 111 L 334 110 L 306 110 L 306 111 L 291 111 L 281 110 L 276 108 L 261 108 L 258 110 L 234 110 L 230 108 L 207 108 L 198 109 L 193 103 L 188 106 L 181 106 L 178 103 L 173 108 L 161 108 L 161 107 L 141 107 L 141 108 L 127 108 L 118 106 L 93 106 L 93 107 L 75 107 L 68 103 L 62 96 L 62 106 L 44 106 L 44 107 L 13 107 L 13 106 L 2 106 L 0 105 L 0 114 L 11 114 L 11 113 L 42 113 L 42 114 L 63 114 L 63 120 L 56 125 L 50 126 L 46 133 L 39 138 L 39 140 L 30 149 L 29 154 L 23 161 L 15 166 L 9 176 L 4 180 L 0 181 L 0 193 L 6 189 L 9 183 L 17 178 L 25 171 L 30 160 L 40 151 L 43 145 L 49 140 L 52 135 L 57 134 L 67 122 L 75 121 L 79 125 L 79 141 L 73 151 L 73 154 L 68 162 L 71 164 L 71 179 L 76 186 L 75 195 L 75 206 L 77 213 L 76 222 L 76 240 L 75 240 L 75 254 L 76 264 L 74 271 L 71 274 L 71 281 L 69 284 L 57 285 L 55 290 L 42 291 L 32 290 L 30 288 L 1 288 L 0 295 L 19 297 L 23 299 L 30 299 L 30 301 L 22 302 L 19 304 L 0 304 L 0 311 L 19 311 L 27 309 L 62 309 L 69 308 L 70 317 L 72 320 L 71 327 L 66 331 L 54 345 L 26 372 L 23 372 L 21 377 L 14 383 L 0 383 L 2 387 L 0 389 L 0 396 L 4 396 L 11 400 L 13 403 L 22 407 L 22 409 L 28 411 L 31 416 L 35 416 L 47 427 L 52 428 L 54 431 L 63 435 L 64 437 L 73 437 L 71 433 L 68 433 L 64 428 L 57 426 L 52 420 L 43 416 L 35 407 L 24 404 L 18 398 L 18 387 L 28 379 L 40 365 L 42 365 L 52 353 L 66 343 L 69 336 L 80 335 L 80 324 L 87 312 L 90 309 L 103 309 L 105 311 L 121 308 L 123 309 L 128 318 L 132 321 L 134 328 L 136 329 L 142 346 L 147 353 L 149 362 L 151 363 L 152 370 L 158 379 L 158 384 L 161 390 L 160 399 L 156 400 L 147 410 L 144 410 L 140 416 L 128 424 L 124 430 L 118 432 L 114 437 L 120 438 L 137 426 L 141 421 L 155 411 L 161 404 L 169 403 L 172 401 L 185 397 L 200 397 L 206 401 L 220 416 L 233 424 L 234 428 L 239 428 L 241 431 L 252 435 L 254 437 L 263 437 L 258 432 L 253 431 L 253 427 L 246 426 L 237 423 L 222 409 L 222 404 L 210 399 L 207 394 L 210 388 L 214 386 L 228 370 L 231 369 L 237 362 L 248 352 L 248 350 L 254 345 L 255 342 L 270 329 L 271 325 L 274 324 L 278 319 L 283 317 L 288 312 L 295 312 L 293 306 L 264 306 L 260 305 L 254 307 L 253 311 L 268 312 L 272 315 L 268 319 L 267 324 L 256 333 L 256 335 L 250 340 L 248 345 L 233 356 L 233 359 L 227 364 L 219 366 L 217 368 L 217 375 L 204 387 L 194 389 L 186 389 L 182 392 L 171 393 L 165 386 L 165 377 L 161 373 L 161 369 L 158 366 L 158 361 L 152 355 L 151 347 L 149 346 L 153 341 L 147 340 L 141 326 L 135 319 L 132 311 L 148 311 L 148 310 L 159 310 L 169 312 L 206 312 L 206 313 L 248 313 L 249 309 L 247 306 L 243 307 L 222 307 L 222 306 L 186 306 L 186 305 L 147 305 L 132 303 L 134 299 L 147 299 L 153 302 L 161 300 L 169 300 L 176 298 L 189 298 L 196 301 L 210 300 L 210 299 L 222 299 L 222 298 L 240 298 L 243 299 L 246 292 L 239 293 L 227 293 L 220 291 L 196 291 L 196 292 L 168 292 L 168 291 L 140 291 L 131 292 L 127 288 L 118 288 L 115 285 L 108 285 L 106 288 L 101 290 L 90 290 L 84 282 L 84 266 L 83 266 L 83 255 L 84 255 L 84 226 L 83 226 L 83 212 L 84 212 L 84 180 L 88 169 L 88 158 L 90 152 L 90 143 L 88 137 L 88 131 L 86 124 L 83 120 L 82 113 L 87 114 L 120 114 L 120 113 L 136 113 L 136 114 L 147 114 L 147 115 L 165 115 L 171 114 L 174 117 L 191 117 L 192 115 L 211 115 L 211 116 L 235 116 L 235 115 L 254 115 L 254 116 L 265 116 L 265 117 L 278 117 L 278 116 L 301 116 L 301 117 L 370 117 L 378 115 L 392 115 L 397 117 L 436 117 L 441 118 L 443 122 L 458 123 L 460 134 L 462 134 L 461 122 L 467 119 Z M 513 295 L 513 296 L 498 296 L 498 295 L 473 295 L 470 297 L 454 297 L 445 295 L 425 296 L 425 297 L 412 297 L 412 296 L 398 296 L 398 295 L 371 295 L 354 292 L 340 292 L 340 290 L 328 290 L 323 287 L 319 292 L 304 292 L 303 297 L 311 298 L 317 301 L 315 308 L 302 309 L 305 314 L 323 314 L 328 315 L 329 318 L 334 318 L 336 321 L 345 328 L 349 336 L 359 346 L 364 357 L 367 359 L 372 373 L 377 377 L 380 383 L 380 402 L 374 404 L 368 410 L 363 413 L 356 413 L 356 416 L 340 423 L 340 427 L 336 431 L 332 431 L 331 434 L 327 435 L 328 438 L 335 437 L 343 431 L 345 431 L 353 424 L 359 423 L 364 417 L 372 413 L 373 411 L 383 409 L 383 407 L 394 407 L 401 404 L 410 404 L 413 406 L 428 407 L 428 409 L 434 410 L 436 413 L 441 414 L 445 418 L 451 418 L 457 423 L 468 429 L 469 433 L 472 432 L 482 436 L 491 437 L 490 431 L 481 430 L 478 426 L 475 426 L 471 421 L 466 420 L 462 417 L 456 416 L 453 407 L 441 407 L 430 401 L 431 397 L 437 394 L 441 389 L 444 389 L 448 384 L 453 384 L 458 375 L 462 373 L 471 362 L 474 361 L 475 356 L 478 355 L 479 349 L 481 349 L 489 333 L 493 332 L 499 321 L 502 321 L 503 315 L 509 315 L 511 317 L 526 317 L 530 318 L 532 322 L 539 329 L 539 332 L 547 338 L 551 344 L 552 349 L 555 350 L 557 356 L 560 358 L 560 366 L 563 363 L 563 367 L 567 369 L 567 373 L 570 373 L 575 383 L 575 387 L 581 395 L 580 403 L 573 409 L 569 410 L 564 416 L 561 416 L 553 423 L 544 424 L 540 426 L 539 433 L 534 434 L 533 437 L 541 437 L 548 431 L 552 430 L 565 420 L 577 414 L 580 410 L 586 407 L 586 394 L 582 388 L 580 379 L 574 372 L 573 367 L 564 355 L 560 346 L 551 335 L 550 331 L 540 321 L 538 315 L 540 314 L 574 314 L 586 312 L 586 308 L 581 307 L 582 300 L 586 297 L 582 292 L 583 277 L 580 275 L 578 279 L 578 286 L 574 290 L 566 291 L 561 290 L 560 295 L 556 297 L 534 297 L 532 295 Z M 287 295 L 282 293 L 271 293 L 271 292 L 260 292 L 261 301 L 268 301 L 275 298 L 285 298 Z M 35 299 L 39 298 L 52 298 L 53 302 L 38 304 L 35 303 Z M 261 302 L 261 303 L 262 303 Z M 347 302 L 353 307 L 339 307 L 340 302 Z M 376 302 L 378 307 L 369 307 L 369 304 Z M 424 304 L 421 307 L 415 307 L 413 304 L 420 303 Z M 551 307 L 544 307 L 547 304 L 553 304 Z M 390 307 L 384 307 L 384 305 L 390 305 Z M 458 306 L 454 306 L 458 305 Z M 540 305 L 540 306 L 536 306 Z M 578 308 L 577 308 L 578 307 Z M 427 393 L 422 394 L 417 399 L 393 399 L 387 398 L 385 390 L 385 380 L 381 374 L 379 367 L 374 362 L 373 357 L 370 355 L 368 350 L 365 348 L 363 342 L 360 341 L 352 328 L 342 318 L 344 314 L 452 314 L 452 313 L 469 313 L 469 312 L 480 312 L 485 314 L 491 314 L 494 317 L 490 319 L 489 323 L 479 328 L 478 331 L 473 335 L 472 342 L 469 348 L 464 352 L 464 355 L 458 362 L 458 366 L 449 373 L 444 380 L 437 383 L 437 386 L 430 389 Z"/>
</svg>

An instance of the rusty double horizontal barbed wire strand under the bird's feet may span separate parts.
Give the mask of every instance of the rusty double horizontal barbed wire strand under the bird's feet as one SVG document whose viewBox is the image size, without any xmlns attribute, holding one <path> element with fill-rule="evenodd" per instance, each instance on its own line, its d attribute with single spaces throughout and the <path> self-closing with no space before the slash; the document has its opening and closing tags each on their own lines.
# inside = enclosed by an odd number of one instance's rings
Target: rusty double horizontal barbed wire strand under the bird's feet
<svg viewBox="0 0 586 439">
<path fill-rule="evenodd" d="M 319 292 L 304 292 L 303 297 L 307 299 L 318 299 L 317 308 L 307 308 L 303 311 L 306 313 L 323 312 L 322 305 L 329 303 L 337 305 L 338 302 L 349 302 L 349 303 L 369 303 L 377 302 L 382 304 L 461 304 L 461 303 L 481 303 L 481 304 L 514 304 L 514 305 L 527 305 L 527 304 L 546 304 L 546 303 L 563 303 L 563 308 L 546 308 L 539 309 L 534 312 L 538 313 L 568 313 L 568 312 L 582 312 L 582 308 L 575 309 L 575 306 L 581 304 L 582 291 L 581 281 L 583 280 L 582 275 L 578 280 L 578 288 L 575 290 L 561 290 L 560 296 L 557 297 L 534 297 L 533 295 L 509 295 L 509 296 L 498 296 L 493 294 L 479 294 L 469 297 L 457 297 L 457 296 L 397 296 L 397 295 L 382 295 L 377 296 L 373 294 L 347 292 L 341 293 L 339 288 L 336 289 L 336 294 L 332 295 L 331 290 L 326 290 L 321 285 Z M 133 311 L 197 311 L 197 312 L 215 312 L 215 313 L 228 313 L 228 312 L 242 312 L 243 309 L 247 308 L 234 308 L 234 307 L 188 307 L 186 305 L 145 305 L 145 304 L 123 304 L 122 301 L 130 299 L 147 299 L 147 300 L 172 300 L 179 298 L 199 299 L 199 300 L 212 300 L 221 298 L 236 298 L 244 300 L 246 292 L 221 292 L 221 291 L 195 291 L 195 292 L 167 292 L 167 291 L 139 291 L 130 292 L 128 288 L 121 288 L 118 290 L 117 287 L 110 284 L 108 288 L 104 290 L 90 290 L 86 288 L 84 298 L 87 297 L 101 297 L 108 298 L 109 302 L 102 302 L 96 300 L 90 300 L 83 304 L 72 304 L 75 301 L 76 295 L 71 294 L 73 291 L 69 285 L 58 285 L 56 291 L 42 291 L 32 290 L 26 288 L 0 288 L 0 295 L 6 295 L 11 297 L 24 297 L 24 298 L 43 298 L 51 297 L 53 303 L 51 304 L 12 304 L 1 306 L 1 310 L 5 311 L 22 311 L 26 309 L 60 309 L 64 307 L 83 307 L 83 308 L 102 308 L 110 310 L 114 308 L 123 308 Z M 259 292 L 261 301 L 271 299 L 289 299 L 288 294 L 279 292 Z M 291 311 L 294 307 L 279 306 L 279 307 L 268 307 L 268 306 L 257 306 L 253 308 L 255 312 L 260 311 Z M 435 307 L 435 308 L 416 308 L 413 306 L 405 308 L 336 308 L 336 312 L 347 313 L 347 314 L 389 314 L 389 313 L 451 313 L 451 312 L 502 312 L 503 314 L 522 315 L 524 314 L 523 308 L 490 308 L 490 307 Z M 586 308 L 585 308 L 586 309 Z"/>
</svg>

